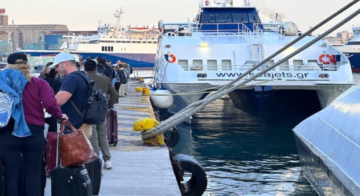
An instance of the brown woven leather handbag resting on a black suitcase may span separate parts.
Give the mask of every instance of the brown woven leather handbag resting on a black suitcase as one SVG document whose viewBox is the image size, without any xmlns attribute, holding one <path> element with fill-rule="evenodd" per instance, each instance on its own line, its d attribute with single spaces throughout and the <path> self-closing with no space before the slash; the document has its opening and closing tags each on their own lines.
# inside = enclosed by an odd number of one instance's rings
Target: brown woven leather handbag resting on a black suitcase
<svg viewBox="0 0 360 196">
<path fill-rule="evenodd" d="M 72 129 L 72 133 L 63 134 L 65 124 Z M 97 157 L 84 131 L 77 130 L 69 121 L 61 123 L 59 146 L 62 165 L 65 167 L 90 163 Z"/>
</svg>

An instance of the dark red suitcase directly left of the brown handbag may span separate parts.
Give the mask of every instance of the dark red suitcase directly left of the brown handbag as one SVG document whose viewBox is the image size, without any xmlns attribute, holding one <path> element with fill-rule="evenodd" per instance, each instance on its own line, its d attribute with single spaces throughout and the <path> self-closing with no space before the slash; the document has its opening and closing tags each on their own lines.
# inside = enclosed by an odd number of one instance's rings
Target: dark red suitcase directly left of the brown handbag
<svg viewBox="0 0 360 196">
<path fill-rule="evenodd" d="M 56 166 L 56 144 L 57 132 L 48 132 L 46 137 L 46 170 L 48 177 L 50 177 L 51 171 Z M 58 161 L 58 165 L 60 165 L 60 159 Z"/>
</svg>

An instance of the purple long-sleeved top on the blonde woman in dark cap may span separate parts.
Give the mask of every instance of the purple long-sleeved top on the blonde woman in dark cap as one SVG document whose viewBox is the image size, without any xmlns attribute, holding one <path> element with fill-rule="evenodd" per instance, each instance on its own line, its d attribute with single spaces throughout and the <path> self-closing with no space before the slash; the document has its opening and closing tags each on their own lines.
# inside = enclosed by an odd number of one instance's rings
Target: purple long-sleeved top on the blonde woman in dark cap
<svg viewBox="0 0 360 196">
<path fill-rule="evenodd" d="M 54 118 L 62 117 L 53 90 L 42 78 L 32 77 L 31 81 L 26 84 L 23 92 L 23 106 L 27 124 L 44 126 L 43 108 Z"/>
</svg>

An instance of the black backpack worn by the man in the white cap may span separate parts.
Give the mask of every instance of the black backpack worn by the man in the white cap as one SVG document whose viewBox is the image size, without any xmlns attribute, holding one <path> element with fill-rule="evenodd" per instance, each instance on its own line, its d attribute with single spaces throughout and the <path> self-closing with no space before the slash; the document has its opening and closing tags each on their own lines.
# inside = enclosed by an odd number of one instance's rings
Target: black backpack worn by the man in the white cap
<svg viewBox="0 0 360 196">
<path fill-rule="evenodd" d="M 75 73 L 80 75 L 86 81 L 86 84 L 89 86 L 88 95 L 86 97 L 86 105 L 83 111 L 80 111 L 76 107 L 75 103 L 70 100 L 72 106 L 80 114 L 84 123 L 87 124 L 101 124 L 106 120 L 106 113 L 108 110 L 108 99 L 106 94 L 102 92 L 101 89 L 95 86 L 93 80 L 88 80 L 84 74 Z"/>
</svg>

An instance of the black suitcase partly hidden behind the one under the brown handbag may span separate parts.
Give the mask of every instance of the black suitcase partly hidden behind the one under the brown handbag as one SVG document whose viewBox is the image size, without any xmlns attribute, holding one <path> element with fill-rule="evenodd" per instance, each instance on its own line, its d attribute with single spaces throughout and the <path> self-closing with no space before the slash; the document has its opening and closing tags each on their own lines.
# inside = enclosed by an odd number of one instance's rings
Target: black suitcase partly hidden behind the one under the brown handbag
<svg viewBox="0 0 360 196">
<path fill-rule="evenodd" d="M 98 196 L 100 192 L 100 186 L 101 186 L 101 159 L 97 158 L 95 161 L 85 164 L 85 168 L 89 173 L 90 179 L 91 179 L 91 185 L 93 189 L 93 196 Z"/>
</svg>

